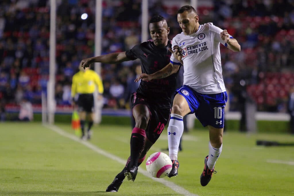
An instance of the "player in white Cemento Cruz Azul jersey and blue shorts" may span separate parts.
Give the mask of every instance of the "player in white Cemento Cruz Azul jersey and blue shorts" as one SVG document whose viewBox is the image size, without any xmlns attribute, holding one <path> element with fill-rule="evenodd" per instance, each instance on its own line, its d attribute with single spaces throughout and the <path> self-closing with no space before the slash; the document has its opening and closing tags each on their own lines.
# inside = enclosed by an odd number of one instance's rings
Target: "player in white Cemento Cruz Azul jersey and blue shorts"
<svg viewBox="0 0 294 196">
<path fill-rule="evenodd" d="M 199 16 L 192 6 L 181 7 L 177 19 L 183 32 L 173 38 L 170 63 L 156 73 L 143 73 L 136 81 L 165 78 L 176 73 L 181 64 L 184 66 L 184 85 L 177 90 L 173 100 L 168 126 L 169 157 L 173 161 L 173 169 L 168 176 L 178 175 L 178 145 L 183 134 L 183 116 L 195 113 L 202 125 L 209 129 L 209 154 L 200 176 L 201 185 L 206 186 L 212 174 L 216 173 L 214 165 L 222 151 L 224 108 L 228 100 L 219 45 L 221 43 L 235 52 L 239 52 L 241 47 L 227 30 L 212 23 L 199 24 Z"/>
</svg>

